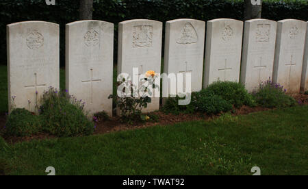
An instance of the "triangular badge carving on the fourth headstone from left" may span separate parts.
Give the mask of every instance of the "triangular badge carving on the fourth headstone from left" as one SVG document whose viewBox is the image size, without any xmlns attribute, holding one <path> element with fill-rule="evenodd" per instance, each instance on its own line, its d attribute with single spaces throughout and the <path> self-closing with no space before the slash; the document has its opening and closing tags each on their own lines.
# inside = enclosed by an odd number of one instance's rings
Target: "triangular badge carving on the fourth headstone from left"
<svg viewBox="0 0 308 189">
<path fill-rule="evenodd" d="M 196 29 L 194 29 L 191 23 L 186 23 L 183 29 L 181 30 L 181 34 L 177 39 L 177 43 L 187 45 L 196 43 L 197 41 L 198 41 L 198 35 L 196 33 Z"/>
</svg>

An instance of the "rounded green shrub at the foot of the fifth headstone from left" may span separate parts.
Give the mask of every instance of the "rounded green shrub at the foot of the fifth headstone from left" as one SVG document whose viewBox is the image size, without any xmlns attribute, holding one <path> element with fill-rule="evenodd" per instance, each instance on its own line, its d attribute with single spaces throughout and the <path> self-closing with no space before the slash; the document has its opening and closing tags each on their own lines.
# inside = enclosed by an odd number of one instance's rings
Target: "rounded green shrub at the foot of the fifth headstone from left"
<svg viewBox="0 0 308 189">
<path fill-rule="evenodd" d="M 245 86 L 233 81 L 216 81 L 207 87 L 215 95 L 219 95 L 222 99 L 229 101 L 235 108 L 240 108 L 242 105 L 255 106 L 253 96 L 250 95 Z"/>
</svg>

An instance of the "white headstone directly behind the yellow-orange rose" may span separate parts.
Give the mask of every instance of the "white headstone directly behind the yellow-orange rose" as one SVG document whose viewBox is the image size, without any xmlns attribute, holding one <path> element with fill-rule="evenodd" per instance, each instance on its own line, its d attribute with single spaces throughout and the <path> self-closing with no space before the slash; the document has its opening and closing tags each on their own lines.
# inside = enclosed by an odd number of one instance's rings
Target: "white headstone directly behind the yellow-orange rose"
<svg viewBox="0 0 308 189">
<path fill-rule="evenodd" d="M 133 78 L 133 68 L 138 68 L 139 74 L 144 74 L 146 71 L 160 73 L 161 61 L 161 22 L 140 19 L 119 23 L 118 74 L 127 73 Z M 151 99 L 152 102 L 144 112 L 159 109 L 159 98 Z"/>
</svg>

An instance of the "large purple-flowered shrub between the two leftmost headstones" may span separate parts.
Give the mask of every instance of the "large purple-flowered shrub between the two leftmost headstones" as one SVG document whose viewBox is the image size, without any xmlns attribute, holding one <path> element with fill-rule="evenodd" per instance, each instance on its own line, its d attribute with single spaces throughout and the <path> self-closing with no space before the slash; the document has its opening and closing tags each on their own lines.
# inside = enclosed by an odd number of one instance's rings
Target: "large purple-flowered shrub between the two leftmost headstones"
<svg viewBox="0 0 308 189">
<path fill-rule="evenodd" d="M 55 136 L 82 136 L 94 132 L 94 123 L 84 113 L 81 100 L 50 88 L 42 97 L 40 116 L 43 130 Z"/>
</svg>

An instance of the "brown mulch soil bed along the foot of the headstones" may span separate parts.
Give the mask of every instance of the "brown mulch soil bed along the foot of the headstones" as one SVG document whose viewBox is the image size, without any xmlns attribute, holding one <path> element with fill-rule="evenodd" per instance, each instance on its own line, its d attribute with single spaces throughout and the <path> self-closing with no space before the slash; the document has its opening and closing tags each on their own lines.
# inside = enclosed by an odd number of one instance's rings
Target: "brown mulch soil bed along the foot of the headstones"
<svg viewBox="0 0 308 189">
<path fill-rule="evenodd" d="M 308 95 L 303 94 L 297 94 L 292 95 L 298 101 L 301 105 L 308 105 Z M 242 106 L 241 108 L 238 108 L 233 112 L 232 114 L 237 115 L 243 115 L 243 114 L 250 114 L 253 112 L 260 112 L 260 111 L 266 111 L 266 110 L 272 110 L 271 108 L 263 108 L 263 107 L 255 107 L 251 108 L 248 106 Z M 152 127 L 155 125 L 172 125 L 175 123 L 181 123 L 185 121 L 209 121 L 212 118 L 216 118 L 220 116 L 219 114 L 216 116 L 209 116 L 207 114 L 179 114 L 179 115 L 173 115 L 173 114 L 164 114 L 164 112 L 153 112 L 153 114 L 156 114 L 158 116 L 158 122 L 157 123 L 136 123 L 134 125 L 129 125 L 125 123 L 120 122 L 120 118 L 118 116 L 114 116 L 110 118 L 110 121 L 103 121 L 101 123 L 97 123 L 97 128 L 94 131 L 94 135 L 97 134 L 107 134 L 110 132 L 115 131 L 125 131 L 130 129 L 142 129 L 145 127 Z M 5 114 L 0 114 L 0 134 L 1 131 L 3 132 L 3 128 L 5 126 L 6 116 Z M 52 136 L 50 134 L 40 133 L 36 134 L 34 136 L 27 136 L 27 137 L 12 137 L 12 136 L 3 136 L 3 138 L 6 140 L 6 142 L 10 144 L 14 144 L 16 142 L 24 142 L 24 141 L 30 141 L 30 140 L 44 140 L 44 139 L 50 139 L 50 138 L 56 138 L 55 136 Z"/>
</svg>

